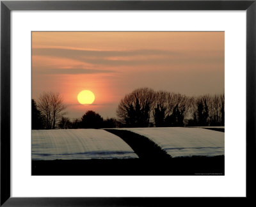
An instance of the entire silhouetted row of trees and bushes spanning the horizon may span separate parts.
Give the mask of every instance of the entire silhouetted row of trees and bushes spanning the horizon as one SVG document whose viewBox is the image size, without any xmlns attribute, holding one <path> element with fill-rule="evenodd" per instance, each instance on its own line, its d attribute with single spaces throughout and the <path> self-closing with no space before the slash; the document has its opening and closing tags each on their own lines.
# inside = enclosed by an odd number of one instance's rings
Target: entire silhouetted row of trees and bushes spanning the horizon
<svg viewBox="0 0 256 207">
<path fill-rule="evenodd" d="M 224 126 L 223 95 L 189 97 L 179 93 L 135 89 L 120 100 L 118 120 L 103 119 L 87 111 L 70 121 L 63 116 L 66 109 L 58 93 L 43 93 L 38 104 L 32 99 L 32 129 L 52 128 L 116 128 L 116 127 L 204 127 Z"/>
</svg>

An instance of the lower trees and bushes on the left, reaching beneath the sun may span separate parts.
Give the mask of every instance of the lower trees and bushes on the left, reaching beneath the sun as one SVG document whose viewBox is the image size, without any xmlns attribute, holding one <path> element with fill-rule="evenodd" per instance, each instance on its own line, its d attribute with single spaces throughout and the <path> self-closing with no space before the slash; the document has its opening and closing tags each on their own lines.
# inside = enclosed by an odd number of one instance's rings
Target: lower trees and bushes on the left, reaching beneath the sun
<svg viewBox="0 0 256 207">
<path fill-rule="evenodd" d="M 81 119 L 70 121 L 65 115 L 66 106 L 58 93 L 43 93 L 38 103 L 32 99 L 31 118 L 32 129 L 54 128 L 116 128 L 119 122 L 115 118 L 103 119 L 94 111 L 87 111 Z"/>
</svg>

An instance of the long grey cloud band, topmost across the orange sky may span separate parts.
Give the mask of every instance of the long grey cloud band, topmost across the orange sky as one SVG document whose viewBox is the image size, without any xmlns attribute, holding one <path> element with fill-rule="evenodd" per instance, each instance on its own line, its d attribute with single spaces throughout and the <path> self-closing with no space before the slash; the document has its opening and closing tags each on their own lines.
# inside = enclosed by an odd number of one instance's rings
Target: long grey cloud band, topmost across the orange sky
<svg viewBox="0 0 256 207">
<path fill-rule="evenodd" d="M 57 48 L 36 48 L 33 49 L 35 56 L 54 56 L 67 59 L 76 59 L 83 63 L 108 66 L 132 66 L 132 65 L 163 65 L 163 64 L 211 64 L 223 63 L 224 52 L 214 51 L 191 51 L 173 52 L 170 50 L 79 50 L 79 49 L 57 49 Z M 145 59 L 136 59 L 136 56 L 145 56 Z M 152 57 L 155 56 L 155 57 Z M 161 57 L 160 57 L 161 56 Z M 117 57 L 108 59 L 108 57 Z M 129 57 L 127 60 L 118 57 Z M 80 73 L 81 69 L 77 70 Z M 83 72 L 83 71 L 81 71 Z M 85 72 L 86 73 L 86 72 Z M 90 71 L 89 71 L 90 73 Z"/>
</svg>

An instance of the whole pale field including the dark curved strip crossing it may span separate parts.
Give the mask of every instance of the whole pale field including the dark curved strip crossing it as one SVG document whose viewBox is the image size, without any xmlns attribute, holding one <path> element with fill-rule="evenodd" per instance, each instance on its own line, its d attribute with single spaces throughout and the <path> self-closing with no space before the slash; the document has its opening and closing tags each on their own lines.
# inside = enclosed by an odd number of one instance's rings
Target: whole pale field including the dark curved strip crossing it
<svg viewBox="0 0 256 207">
<path fill-rule="evenodd" d="M 32 160 L 214 157 L 224 133 L 205 128 L 32 130 Z"/>
</svg>

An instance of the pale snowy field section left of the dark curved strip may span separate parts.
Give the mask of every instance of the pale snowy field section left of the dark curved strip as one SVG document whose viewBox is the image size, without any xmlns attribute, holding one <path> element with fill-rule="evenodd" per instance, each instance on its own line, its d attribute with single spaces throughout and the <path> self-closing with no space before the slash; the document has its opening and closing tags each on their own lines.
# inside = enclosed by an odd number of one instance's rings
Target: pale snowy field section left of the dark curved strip
<svg viewBox="0 0 256 207">
<path fill-rule="evenodd" d="M 32 160 L 138 158 L 122 139 L 105 130 L 32 130 Z"/>
</svg>

